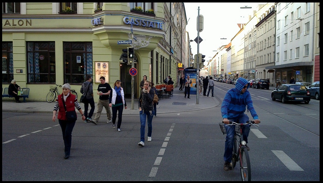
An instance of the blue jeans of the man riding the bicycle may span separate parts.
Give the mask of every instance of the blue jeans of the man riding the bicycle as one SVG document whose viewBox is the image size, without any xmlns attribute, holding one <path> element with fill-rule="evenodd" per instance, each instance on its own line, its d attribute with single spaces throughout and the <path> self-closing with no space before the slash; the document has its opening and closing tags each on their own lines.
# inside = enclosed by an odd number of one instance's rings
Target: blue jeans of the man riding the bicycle
<svg viewBox="0 0 323 183">
<path fill-rule="evenodd" d="M 234 119 L 229 119 L 230 121 L 234 121 L 235 123 L 246 123 L 246 121 L 249 120 L 249 117 L 247 114 L 242 114 Z M 225 125 L 225 124 L 224 124 Z M 224 156 L 223 159 L 226 162 L 231 162 L 232 160 L 232 151 L 233 151 L 233 145 L 234 145 L 234 131 L 235 131 L 235 125 L 228 125 L 225 126 L 226 131 L 226 137 L 225 137 L 225 147 L 224 147 Z M 243 125 L 242 126 L 242 134 L 243 139 L 246 143 L 248 143 L 248 136 L 250 131 L 250 125 Z"/>
</svg>

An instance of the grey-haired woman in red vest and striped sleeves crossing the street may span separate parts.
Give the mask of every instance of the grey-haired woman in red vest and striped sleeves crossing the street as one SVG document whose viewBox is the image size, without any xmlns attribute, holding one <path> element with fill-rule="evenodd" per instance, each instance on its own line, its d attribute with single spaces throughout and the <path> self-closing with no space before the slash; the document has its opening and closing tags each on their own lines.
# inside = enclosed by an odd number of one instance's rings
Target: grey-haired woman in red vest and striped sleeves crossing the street
<svg viewBox="0 0 323 183">
<path fill-rule="evenodd" d="M 73 111 L 73 110 L 75 111 L 75 108 L 76 108 L 81 113 L 83 121 L 85 120 L 85 116 L 81 106 L 78 103 L 77 97 L 70 92 L 71 86 L 68 83 L 65 83 L 62 86 L 62 90 L 63 90 L 62 94 L 58 95 L 56 98 L 52 118 L 53 118 L 53 121 L 55 122 L 56 113 L 58 111 L 57 119 L 62 129 L 63 141 L 65 145 L 64 159 L 68 159 L 71 151 L 72 131 L 73 131 L 76 119 L 68 120 L 66 118 L 66 112 L 65 112 L 64 106 L 66 106 L 66 111 Z"/>
</svg>

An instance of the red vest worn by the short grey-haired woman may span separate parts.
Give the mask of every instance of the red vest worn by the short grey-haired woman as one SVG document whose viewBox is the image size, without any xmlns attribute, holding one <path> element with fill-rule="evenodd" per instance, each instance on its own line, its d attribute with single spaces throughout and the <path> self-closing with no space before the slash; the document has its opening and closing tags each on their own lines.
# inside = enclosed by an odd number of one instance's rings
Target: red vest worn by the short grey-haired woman
<svg viewBox="0 0 323 183">
<path fill-rule="evenodd" d="M 71 92 L 69 92 L 68 97 L 66 98 L 65 104 L 66 104 L 66 110 L 67 111 L 75 111 L 75 95 L 73 95 Z M 65 108 L 63 105 L 63 93 L 58 95 L 58 115 L 57 119 L 60 120 L 66 120 L 66 113 L 65 113 Z"/>
</svg>

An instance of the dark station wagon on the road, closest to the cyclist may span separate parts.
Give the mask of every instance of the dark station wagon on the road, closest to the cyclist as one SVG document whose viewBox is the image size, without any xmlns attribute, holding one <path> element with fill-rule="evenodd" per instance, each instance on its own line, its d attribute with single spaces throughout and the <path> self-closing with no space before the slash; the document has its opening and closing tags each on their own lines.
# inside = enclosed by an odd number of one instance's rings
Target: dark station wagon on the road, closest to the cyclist
<svg viewBox="0 0 323 183">
<path fill-rule="evenodd" d="M 282 103 L 296 101 L 308 104 L 311 100 L 311 95 L 305 86 L 299 84 L 282 84 L 271 92 L 271 99 L 273 101 L 276 101 L 276 99 L 281 100 Z"/>
</svg>

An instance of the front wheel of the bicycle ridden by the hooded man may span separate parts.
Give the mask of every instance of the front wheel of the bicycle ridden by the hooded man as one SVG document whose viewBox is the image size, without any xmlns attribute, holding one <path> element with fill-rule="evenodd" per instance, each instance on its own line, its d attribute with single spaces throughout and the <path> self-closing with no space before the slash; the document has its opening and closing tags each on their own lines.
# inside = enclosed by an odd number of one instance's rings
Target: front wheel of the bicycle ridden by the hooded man
<svg viewBox="0 0 323 183">
<path fill-rule="evenodd" d="M 251 167 L 247 148 L 243 147 L 240 151 L 240 171 L 242 181 L 251 181 Z"/>
</svg>

